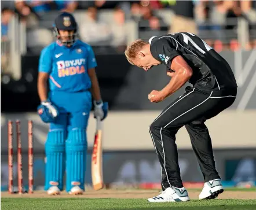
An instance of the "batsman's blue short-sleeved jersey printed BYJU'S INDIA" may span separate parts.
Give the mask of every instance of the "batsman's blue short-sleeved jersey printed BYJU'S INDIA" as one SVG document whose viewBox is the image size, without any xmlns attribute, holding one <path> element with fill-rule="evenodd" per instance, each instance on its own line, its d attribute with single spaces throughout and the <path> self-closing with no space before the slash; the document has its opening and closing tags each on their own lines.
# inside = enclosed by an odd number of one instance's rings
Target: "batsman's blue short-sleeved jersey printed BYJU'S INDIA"
<svg viewBox="0 0 256 210">
<path fill-rule="evenodd" d="M 39 59 L 39 72 L 49 73 L 50 91 L 75 93 L 92 87 L 88 69 L 97 67 L 90 45 L 77 40 L 71 47 L 58 41 L 45 47 Z"/>
</svg>

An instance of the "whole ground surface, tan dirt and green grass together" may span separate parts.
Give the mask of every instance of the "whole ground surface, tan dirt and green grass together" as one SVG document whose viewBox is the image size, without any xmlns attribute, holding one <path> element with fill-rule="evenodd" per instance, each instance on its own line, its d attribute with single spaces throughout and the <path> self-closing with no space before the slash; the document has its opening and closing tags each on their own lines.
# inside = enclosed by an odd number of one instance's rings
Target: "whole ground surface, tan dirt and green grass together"
<svg viewBox="0 0 256 210">
<path fill-rule="evenodd" d="M 156 190 L 158 191 L 158 190 Z M 85 196 L 89 197 L 45 197 L 44 191 L 36 192 L 34 195 L 12 195 L 8 193 L 1 193 L 1 210 L 79 210 L 79 209 L 177 209 L 177 210 L 256 210 L 256 188 L 225 188 L 225 193 L 221 194 L 220 199 L 215 200 L 198 200 L 198 194 L 201 189 L 188 189 L 189 195 L 192 200 L 188 202 L 164 202 L 164 203 L 151 203 L 147 201 L 147 197 L 152 190 L 140 190 L 133 189 L 131 191 L 126 190 L 101 190 L 101 191 L 87 191 Z M 142 194 L 143 199 L 136 198 L 130 199 L 135 195 Z M 148 194 L 149 193 L 149 194 Z M 109 198 L 98 198 L 101 196 L 107 196 Z M 127 196 L 128 195 L 128 196 Z M 16 197 L 17 196 L 17 197 Z M 67 195 L 66 195 L 67 196 Z M 69 195 L 68 195 L 69 196 Z M 113 197 L 114 196 L 114 197 Z M 115 198 L 121 196 L 121 198 Z M 122 196 L 127 196 L 124 198 Z M 229 199 L 229 198 L 234 199 Z M 235 199 L 237 198 L 237 199 Z M 243 199 L 240 199 L 243 198 Z M 250 199 L 253 198 L 253 199 Z"/>
</svg>

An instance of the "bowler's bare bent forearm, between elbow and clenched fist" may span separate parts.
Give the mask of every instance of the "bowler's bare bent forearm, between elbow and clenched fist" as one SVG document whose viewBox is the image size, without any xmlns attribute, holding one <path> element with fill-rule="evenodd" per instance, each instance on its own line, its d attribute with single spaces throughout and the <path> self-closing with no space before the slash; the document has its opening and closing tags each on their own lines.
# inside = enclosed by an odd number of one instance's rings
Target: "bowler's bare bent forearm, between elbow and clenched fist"
<svg viewBox="0 0 256 210">
<path fill-rule="evenodd" d="M 178 71 L 173 74 L 170 82 L 160 92 L 162 92 L 165 97 L 168 97 L 182 86 L 184 86 L 190 77 L 191 75 L 188 75 L 185 70 Z"/>
</svg>

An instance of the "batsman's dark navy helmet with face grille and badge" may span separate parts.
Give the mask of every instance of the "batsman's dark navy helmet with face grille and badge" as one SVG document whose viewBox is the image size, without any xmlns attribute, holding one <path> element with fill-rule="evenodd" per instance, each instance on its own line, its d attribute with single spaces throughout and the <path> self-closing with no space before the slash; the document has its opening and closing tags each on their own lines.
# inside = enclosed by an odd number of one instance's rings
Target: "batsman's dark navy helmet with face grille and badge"
<svg viewBox="0 0 256 210">
<path fill-rule="evenodd" d="M 68 36 L 68 39 L 63 41 L 60 36 L 59 30 L 63 31 L 74 31 L 74 34 Z M 78 24 L 75 21 L 75 17 L 68 12 L 59 14 L 53 24 L 53 32 L 57 39 L 65 46 L 74 45 L 78 39 Z"/>
</svg>

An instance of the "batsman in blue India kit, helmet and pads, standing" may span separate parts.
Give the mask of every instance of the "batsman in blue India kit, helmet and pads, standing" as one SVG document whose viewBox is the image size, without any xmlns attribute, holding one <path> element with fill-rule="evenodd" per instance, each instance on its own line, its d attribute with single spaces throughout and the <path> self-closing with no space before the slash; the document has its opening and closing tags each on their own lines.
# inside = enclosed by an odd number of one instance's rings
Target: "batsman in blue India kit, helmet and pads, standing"
<svg viewBox="0 0 256 210">
<path fill-rule="evenodd" d="M 64 12 L 54 22 L 57 41 L 42 50 L 38 70 L 38 114 L 50 123 L 45 144 L 45 190 L 60 194 L 66 171 L 67 192 L 82 194 L 92 101 L 94 117 L 101 120 L 107 116 L 108 105 L 101 100 L 92 47 L 78 39 L 74 16 Z"/>
</svg>

